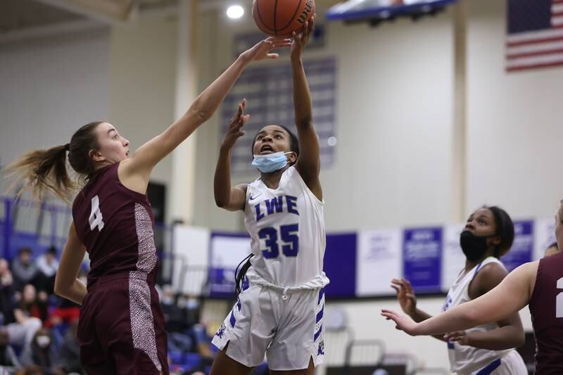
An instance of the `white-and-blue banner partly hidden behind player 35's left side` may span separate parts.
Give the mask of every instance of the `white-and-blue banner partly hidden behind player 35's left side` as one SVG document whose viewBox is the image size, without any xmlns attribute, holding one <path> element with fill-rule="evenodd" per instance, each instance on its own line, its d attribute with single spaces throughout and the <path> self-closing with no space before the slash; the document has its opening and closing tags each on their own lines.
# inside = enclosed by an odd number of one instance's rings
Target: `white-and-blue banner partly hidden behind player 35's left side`
<svg viewBox="0 0 563 375">
<path fill-rule="evenodd" d="M 234 270 L 250 253 L 251 239 L 248 234 L 211 234 L 208 278 L 210 297 L 232 298 Z"/>
</svg>

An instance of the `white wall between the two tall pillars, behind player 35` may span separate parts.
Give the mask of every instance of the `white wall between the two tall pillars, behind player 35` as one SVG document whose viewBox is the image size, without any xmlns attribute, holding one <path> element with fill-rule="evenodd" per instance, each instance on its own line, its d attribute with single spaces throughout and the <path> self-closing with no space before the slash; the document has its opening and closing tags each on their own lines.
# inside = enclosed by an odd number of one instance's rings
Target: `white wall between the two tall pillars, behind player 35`
<svg viewBox="0 0 563 375">
<path fill-rule="evenodd" d="M 317 9 L 317 19 L 322 20 L 322 9 Z M 306 53 L 305 59 L 336 56 L 339 72 L 337 160 L 321 173 L 327 229 L 447 221 L 453 117 L 450 14 L 377 29 L 325 24 L 327 45 Z M 232 23 L 213 13 L 205 13 L 201 25 L 202 77 L 208 84 L 232 61 L 231 38 L 226 36 L 255 27 L 251 19 Z M 210 45 L 214 48 L 208 49 Z M 215 116 L 198 132 L 203 147 L 198 148 L 196 212 L 201 215 L 194 224 L 242 229 L 239 214 L 213 203 L 217 126 Z"/>
</svg>

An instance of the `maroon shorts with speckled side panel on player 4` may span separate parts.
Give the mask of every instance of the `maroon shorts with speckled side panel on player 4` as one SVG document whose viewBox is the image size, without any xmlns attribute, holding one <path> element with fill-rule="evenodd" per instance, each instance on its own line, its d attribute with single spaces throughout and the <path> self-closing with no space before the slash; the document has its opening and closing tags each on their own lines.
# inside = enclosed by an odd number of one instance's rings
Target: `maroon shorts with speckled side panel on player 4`
<svg viewBox="0 0 563 375">
<path fill-rule="evenodd" d="M 104 277 L 88 288 L 77 337 L 89 375 L 169 373 L 158 293 L 143 272 Z"/>
</svg>

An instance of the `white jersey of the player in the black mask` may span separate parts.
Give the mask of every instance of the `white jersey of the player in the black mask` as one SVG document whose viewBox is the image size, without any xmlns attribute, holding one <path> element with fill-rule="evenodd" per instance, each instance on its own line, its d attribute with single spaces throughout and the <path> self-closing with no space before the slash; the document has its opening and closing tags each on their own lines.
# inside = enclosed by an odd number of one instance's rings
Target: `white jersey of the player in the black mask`
<svg viewBox="0 0 563 375">
<path fill-rule="evenodd" d="M 455 280 L 455 283 L 450 288 L 450 291 L 448 291 L 448 298 L 446 298 L 445 304 L 442 308 L 443 312 L 471 300 L 471 298 L 469 298 L 469 284 L 471 284 L 471 281 L 474 279 L 481 267 L 487 265 L 488 263 L 497 263 L 502 268 L 505 267 L 497 258 L 489 257 L 483 260 L 483 262 L 479 265 L 476 265 L 476 267 L 467 272 L 467 274 L 460 272 L 460 275 Z M 467 329 L 466 332 L 486 332 L 497 328 L 498 324 L 491 323 Z M 504 357 L 508 352 L 510 352 L 510 350 L 487 350 L 474 348 L 468 345 L 459 345 L 457 343 L 448 343 L 450 370 L 457 374 L 470 374 L 472 371 L 481 369 L 494 360 Z"/>
</svg>

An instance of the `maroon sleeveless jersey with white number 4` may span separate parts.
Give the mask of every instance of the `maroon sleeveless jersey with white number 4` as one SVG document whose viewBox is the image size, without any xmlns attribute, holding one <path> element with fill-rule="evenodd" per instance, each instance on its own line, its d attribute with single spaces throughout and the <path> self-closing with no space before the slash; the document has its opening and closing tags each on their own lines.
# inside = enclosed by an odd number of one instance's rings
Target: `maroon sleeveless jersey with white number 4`
<svg viewBox="0 0 563 375">
<path fill-rule="evenodd" d="M 141 272 L 153 285 L 157 257 L 151 205 L 144 194 L 121 184 L 118 167 L 115 163 L 98 170 L 72 205 L 76 233 L 90 257 L 88 284 Z"/>
</svg>

